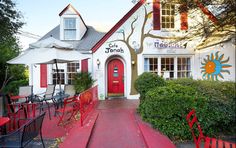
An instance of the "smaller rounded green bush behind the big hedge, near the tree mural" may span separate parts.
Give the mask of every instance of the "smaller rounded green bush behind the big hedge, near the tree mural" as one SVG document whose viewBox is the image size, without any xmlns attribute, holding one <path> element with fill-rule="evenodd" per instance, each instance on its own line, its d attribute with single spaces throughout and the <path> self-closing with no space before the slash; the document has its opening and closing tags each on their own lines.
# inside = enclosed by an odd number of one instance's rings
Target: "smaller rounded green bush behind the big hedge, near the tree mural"
<svg viewBox="0 0 236 148">
<path fill-rule="evenodd" d="M 145 98 L 146 92 L 148 92 L 150 89 L 165 85 L 166 82 L 162 77 L 154 73 L 144 72 L 137 78 L 134 87 L 140 93 L 141 100 L 143 100 Z"/>
</svg>

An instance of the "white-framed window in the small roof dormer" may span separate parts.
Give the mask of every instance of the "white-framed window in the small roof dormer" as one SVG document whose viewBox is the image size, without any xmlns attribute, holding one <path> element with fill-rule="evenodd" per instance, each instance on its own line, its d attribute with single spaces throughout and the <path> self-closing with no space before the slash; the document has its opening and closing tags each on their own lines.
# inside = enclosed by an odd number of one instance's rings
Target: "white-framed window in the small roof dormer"
<svg viewBox="0 0 236 148">
<path fill-rule="evenodd" d="M 76 39 L 76 19 L 64 18 L 64 39 L 75 40 Z"/>
</svg>

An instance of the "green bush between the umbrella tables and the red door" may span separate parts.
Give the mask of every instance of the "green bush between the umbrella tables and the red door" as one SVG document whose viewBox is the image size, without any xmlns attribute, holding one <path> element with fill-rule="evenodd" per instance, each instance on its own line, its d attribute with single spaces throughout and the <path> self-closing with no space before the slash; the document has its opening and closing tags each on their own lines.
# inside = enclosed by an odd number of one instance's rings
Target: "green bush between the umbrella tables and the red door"
<svg viewBox="0 0 236 148">
<path fill-rule="evenodd" d="M 94 83 L 91 73 L 88 72 L 77 73 L 74 79 L 75 90 L 77 93 L 81 93 L 86 89 L 89 89 Z"/>
</svg>

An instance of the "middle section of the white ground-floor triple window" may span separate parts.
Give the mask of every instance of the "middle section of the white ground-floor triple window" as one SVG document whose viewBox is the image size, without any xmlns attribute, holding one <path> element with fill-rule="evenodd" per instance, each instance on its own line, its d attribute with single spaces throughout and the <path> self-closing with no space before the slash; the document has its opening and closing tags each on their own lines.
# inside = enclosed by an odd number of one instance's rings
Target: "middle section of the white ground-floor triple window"
<svg viewBox="0 0 236 148">
<path fill-rule="evenodd" d="M 174 78 L 174 58 L 161 58 L 161 73 L 164 77 Z"/>
</svg>

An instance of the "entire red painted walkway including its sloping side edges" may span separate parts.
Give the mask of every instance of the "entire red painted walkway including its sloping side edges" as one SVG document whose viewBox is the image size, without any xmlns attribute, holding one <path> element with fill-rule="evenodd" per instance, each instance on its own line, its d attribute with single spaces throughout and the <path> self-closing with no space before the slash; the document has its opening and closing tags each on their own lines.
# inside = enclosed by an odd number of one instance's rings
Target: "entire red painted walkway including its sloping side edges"
<svg viewBox="0 0 236 148">
<path fill-rule="evenodd" d="M 138 100 L 100 101 L 86 124 L 73 127 L 61 148 L 174 148 L 164 135 L 141 121 Z"/>
</svg>

